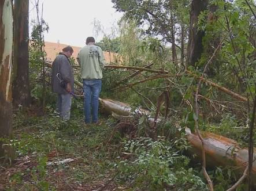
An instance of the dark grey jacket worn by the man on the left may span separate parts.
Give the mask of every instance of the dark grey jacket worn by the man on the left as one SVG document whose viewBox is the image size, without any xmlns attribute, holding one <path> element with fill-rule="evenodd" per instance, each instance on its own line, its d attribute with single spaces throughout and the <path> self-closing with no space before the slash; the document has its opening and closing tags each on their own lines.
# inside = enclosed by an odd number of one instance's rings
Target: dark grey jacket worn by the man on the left
<svg viewBox="0 0 256 191">
<path fill-rule="evenodd" d="M 57 73 L 60 73 L 60 78 L 66 83 L 71 83 L 72 91 L 74 91 L 74 75 L 71 63 L 68 57 L 59 53 L 53 61 L 51 70 L 51 88 L 54 93 L 67 94 L 68 92 L 60 86 L 60 80 L 57 78 Z"/>
</svg>

